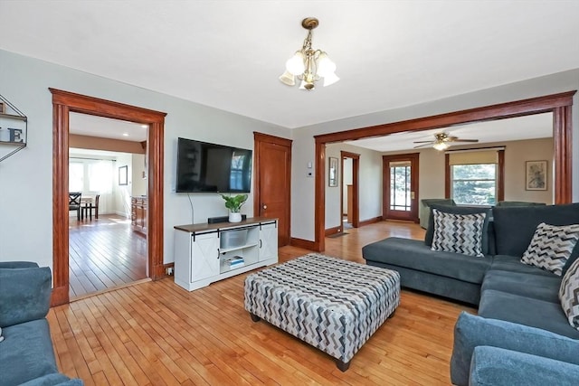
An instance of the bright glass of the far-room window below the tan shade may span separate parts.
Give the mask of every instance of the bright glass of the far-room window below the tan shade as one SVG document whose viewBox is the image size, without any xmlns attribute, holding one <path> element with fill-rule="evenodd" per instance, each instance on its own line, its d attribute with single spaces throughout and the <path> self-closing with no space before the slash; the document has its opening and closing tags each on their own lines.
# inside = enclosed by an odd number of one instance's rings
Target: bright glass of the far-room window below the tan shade
<svg viewBox="0 0 579 386">
<path fill-rule="evenodd" d="M 497 203 L 497 164 L 451 165 L 451 197 L 458 204 Z"/>
</svg>

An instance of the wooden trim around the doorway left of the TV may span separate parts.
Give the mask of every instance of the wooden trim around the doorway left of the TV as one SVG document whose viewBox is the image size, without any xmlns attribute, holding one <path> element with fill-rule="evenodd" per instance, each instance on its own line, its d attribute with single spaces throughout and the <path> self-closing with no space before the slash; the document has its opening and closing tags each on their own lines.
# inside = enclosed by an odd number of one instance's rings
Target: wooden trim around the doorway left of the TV
<svg viewBox="0 0 579 386">
<path fill-rule="evenodd" d="M 163 158 L 166 113 L 137 108 L 60 89 L 52 92 L 52 299 L 69 302 L 69 113 L 114 118 L 148 125 L 148 276 L 164 276 L 163 269 Z"/>
</svg>

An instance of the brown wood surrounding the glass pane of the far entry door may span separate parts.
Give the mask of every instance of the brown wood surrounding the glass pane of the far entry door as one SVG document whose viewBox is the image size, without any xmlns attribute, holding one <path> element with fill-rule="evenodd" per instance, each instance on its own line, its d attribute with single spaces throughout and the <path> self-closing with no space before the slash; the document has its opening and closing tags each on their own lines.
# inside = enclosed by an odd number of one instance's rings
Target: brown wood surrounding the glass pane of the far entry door
<svg viewBox="0 0 579 386">
<path fill-rule="evenodd" d="M 419 185 L 419 176 L 420 176 L 420 170 L 419 170 L 419 160 L 420 160 L 420 153 L 407 153 L 407 154 L 400 154 L 400 155 L 382 155 L 382 219 L 386 220 L 388 218 L 388 216 L 386 215 L 389 210 L 389 206 L 390 206 L 390 180 L 388 178 L 386 178 L 388 175 L 390 175 L 390 168 L 389 165 L 386 165 L 387 163 L 390 163 L 393 160 L 404 160 L 404 161 L 410 161 L 411 163 L 411 176 L 410 176 L 410 184 L 411 184 L 411 190 L 414 193 L 414 198 L 412 199 L 412 203 L 411 203 L 411 208 L 412 211 L 410 213 L 411 215 L 411 219 L 410 221 L 414 221 L 414 222 L 418 222 L 418 197 L 420 197 L 419 195 L 419 190 L 420 190 L 420 185 Z M 407 219 L 396 219 L 394 217 L 392 217 L 393 220 L 407 220 Z"/>
</svg>

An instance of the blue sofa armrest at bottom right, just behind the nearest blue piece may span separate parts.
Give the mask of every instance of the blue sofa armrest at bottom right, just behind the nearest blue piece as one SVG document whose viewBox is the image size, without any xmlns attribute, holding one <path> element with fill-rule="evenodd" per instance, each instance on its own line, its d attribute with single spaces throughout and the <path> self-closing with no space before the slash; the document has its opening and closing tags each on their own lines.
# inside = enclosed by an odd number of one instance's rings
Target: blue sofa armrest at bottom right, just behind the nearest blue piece
<svg viewBox="0 0 579 386">
<path fill-rule="evenodd" d="M 469 384 L 470 362 L 477 346 L 493 346 L 520 353 L 579 364 L 579 341 L 539 328 L 460 313 L 454 326 L 451 381 Z"/>
</svg>

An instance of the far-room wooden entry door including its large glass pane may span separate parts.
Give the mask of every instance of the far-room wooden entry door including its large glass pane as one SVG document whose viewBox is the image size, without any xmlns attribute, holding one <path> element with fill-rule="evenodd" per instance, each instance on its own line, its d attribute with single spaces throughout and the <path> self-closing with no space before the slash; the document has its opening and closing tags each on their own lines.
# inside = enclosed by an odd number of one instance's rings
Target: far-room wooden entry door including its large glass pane
<svg viewBox="0 0 579 386">
<path fill-rule="evenodd" d="M 384 155 L 384 218 L 418 222 L 418 156 Z"/>
</svg>

